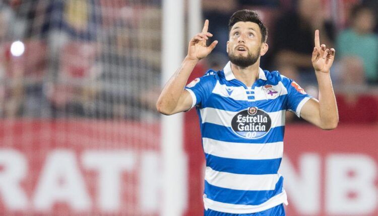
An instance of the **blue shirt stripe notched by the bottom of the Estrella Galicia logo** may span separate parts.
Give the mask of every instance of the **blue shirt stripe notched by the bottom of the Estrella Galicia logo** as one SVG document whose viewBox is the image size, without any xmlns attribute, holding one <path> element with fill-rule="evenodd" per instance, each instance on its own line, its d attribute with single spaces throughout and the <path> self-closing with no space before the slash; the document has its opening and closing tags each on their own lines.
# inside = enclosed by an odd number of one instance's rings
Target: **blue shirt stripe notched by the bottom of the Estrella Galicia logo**
<svg viewBox="0 0 378 216">
<path fill-rule="evenodd" d="M 203 138 L 210 138 L 224 142 L 233 143 L 274 143 L 282 142 L 285 132 L 285 126 L 275 127 L 270 129 L 267 135 L 258 139 L 245 139 L 236 135 L 231 128 L 216 125 L 212 123 L 203 123 L 201 125 L 201 132 Z"/>
</svg>

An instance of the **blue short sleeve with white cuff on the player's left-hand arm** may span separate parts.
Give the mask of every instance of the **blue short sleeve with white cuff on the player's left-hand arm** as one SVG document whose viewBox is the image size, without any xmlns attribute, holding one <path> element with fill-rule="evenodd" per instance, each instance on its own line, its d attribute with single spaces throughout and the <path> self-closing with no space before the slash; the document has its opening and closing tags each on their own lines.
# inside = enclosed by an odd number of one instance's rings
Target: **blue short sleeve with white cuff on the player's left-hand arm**
<svg viewBox="0 0 378 216">
<path fill-rule="evenodd" d="M 194 79 L 185 86 L 185 89 L 191 94 L 194 106 L 201 107 L 209 98 L 216 84 L 216 72 L 209 70 L 203 77 Z"/>
</svg>

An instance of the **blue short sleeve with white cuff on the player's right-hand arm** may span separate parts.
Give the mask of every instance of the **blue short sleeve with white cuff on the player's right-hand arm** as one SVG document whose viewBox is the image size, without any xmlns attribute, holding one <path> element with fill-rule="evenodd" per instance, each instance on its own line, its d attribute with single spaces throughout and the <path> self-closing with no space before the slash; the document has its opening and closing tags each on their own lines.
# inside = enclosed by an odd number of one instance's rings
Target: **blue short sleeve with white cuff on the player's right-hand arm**
<svg viewBox="0 0 378 216">
<path fill-rule="evenodd" d="M 286 77 L 285 77 L 286 78 Z M 288 79 L 288 78 L 286 78 Z M 300 117 L 300 111 L 304 105 L 309 99 L 312 98 L 312 96 L 308 95 L 303 88 L 301 88 L 298 83 L 296 83 L 292 79 L 287 80 L 287 110 L 290 110 L 294 112 L 298 117 Z"/>
</svg>

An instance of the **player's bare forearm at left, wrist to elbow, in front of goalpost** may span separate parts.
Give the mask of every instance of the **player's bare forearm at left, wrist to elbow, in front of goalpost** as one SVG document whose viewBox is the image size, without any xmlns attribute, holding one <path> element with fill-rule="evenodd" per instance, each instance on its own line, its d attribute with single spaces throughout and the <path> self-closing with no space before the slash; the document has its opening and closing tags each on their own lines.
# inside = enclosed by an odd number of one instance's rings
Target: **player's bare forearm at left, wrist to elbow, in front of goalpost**
<svg viewBox="0 0 378 216">
<path fill-rule="evenodd" d="M 180 67 L 165 84 L 156 103 L 160 113 L 170 114 L 177 106 L 187 79 L 191 75 L 198 60 L 191 60 L 185 57 Z"/>
</svg>

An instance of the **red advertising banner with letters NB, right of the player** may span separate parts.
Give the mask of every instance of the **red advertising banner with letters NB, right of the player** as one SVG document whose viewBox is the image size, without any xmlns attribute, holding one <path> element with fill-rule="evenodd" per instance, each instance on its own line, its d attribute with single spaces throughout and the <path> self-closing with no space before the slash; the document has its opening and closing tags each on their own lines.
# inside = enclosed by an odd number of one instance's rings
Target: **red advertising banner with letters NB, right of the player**
<svg viewBox="0 0 378 216">
<path fill-rule="evenodd" d="M 288 215 L 378 215 L 378 125 L 285 130 Z"/>
</svg>

